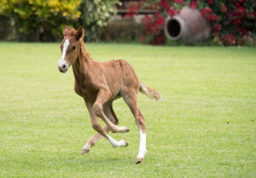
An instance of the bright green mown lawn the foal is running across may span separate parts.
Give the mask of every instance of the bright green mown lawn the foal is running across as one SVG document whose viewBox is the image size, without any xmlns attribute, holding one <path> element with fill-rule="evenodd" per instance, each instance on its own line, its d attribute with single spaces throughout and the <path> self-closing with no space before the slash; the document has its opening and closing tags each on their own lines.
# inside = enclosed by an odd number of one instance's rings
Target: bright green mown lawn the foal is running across
<svg viewBox="0 0 256 178">
<path fill-rule="evenodd" d="M 135 164 L 139 131 L 122 99 L 130 132 L 113 148 L 99 141 L 82 156 L 91 128 L 72 68 L 60 73 L 59 43 L 0 43 L 0 176 L 256 177 L 256 49 L 86 45 L 95 60 L 128 60 L 163 95 L 139 95 L 147 121 L 145 160 Z"/>
</svg>

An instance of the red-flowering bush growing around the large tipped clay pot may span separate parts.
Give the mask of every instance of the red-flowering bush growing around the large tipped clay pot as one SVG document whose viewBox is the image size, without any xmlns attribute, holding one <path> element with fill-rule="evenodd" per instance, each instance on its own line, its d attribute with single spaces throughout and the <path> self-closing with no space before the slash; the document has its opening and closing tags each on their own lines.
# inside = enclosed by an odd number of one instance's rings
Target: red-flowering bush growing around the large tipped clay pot
<svg viewBox="0 0 256 178">
<path fill-rule="evenodd" d="M 188 3 L 189 2 L 189 3 Z M 160 0 L 158 13 L 146 15 L 143 19 L 144 43 L 164 44 L 164 25 L 166 17 L 180 13 L 183 6 L 198 9 L 212 26 L 212 37 L 220 44 L 238 45 L 245 43 L 249 31 L 255 29 L 255 0 Z"/>
</svg>

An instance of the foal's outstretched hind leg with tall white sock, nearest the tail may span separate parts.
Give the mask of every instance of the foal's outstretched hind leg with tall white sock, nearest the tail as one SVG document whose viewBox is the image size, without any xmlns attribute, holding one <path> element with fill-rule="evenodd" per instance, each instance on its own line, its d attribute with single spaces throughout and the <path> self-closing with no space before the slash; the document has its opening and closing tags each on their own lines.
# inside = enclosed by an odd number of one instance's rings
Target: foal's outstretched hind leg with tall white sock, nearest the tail
<svg viewBox="0 0 256 178">
<path fill-rule="evenodd" d="M 143 161 L 144 155 L 147 152 L 146 149 L 146 123 L 143 113 L 137 107 L 137 89 L 123 89 L 122 92 L 125 103 L 130 107 L 131 112 L 137 123 L 137 127 L 140 130 L 140 146 L 139 153 L 137 155 L 136 164 Z"/>
</svg>

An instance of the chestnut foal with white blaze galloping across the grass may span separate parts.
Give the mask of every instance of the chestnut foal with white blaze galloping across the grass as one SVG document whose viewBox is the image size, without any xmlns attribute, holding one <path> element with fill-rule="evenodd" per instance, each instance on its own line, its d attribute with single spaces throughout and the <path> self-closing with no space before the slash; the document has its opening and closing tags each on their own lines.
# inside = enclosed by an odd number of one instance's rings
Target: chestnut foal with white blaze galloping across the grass
<svg viewBox="0 0 256 178">
<path fill-rule="evenodd" d="M 137 106 L 137 93 L 154 100 L 160 100 L 160 94 L 154 89 L 140 83 L 131 65 L 125 60 L 111 60 L 98 62 L 90 58 L 90 54 L 84 49 L 84 29 L 79 27 L 77 31 L 65 26 L 64 39 L 61 43 L 61 60 L 58 63 L 60 72 L 67 72 L 69 66 L 73 67 L 75 78 L 74 90 L 84 98 L 85 105 L 90 113 L 91 124 L 98 134 L 92 136 L 83 147 L 82 154 L 89 152 L 102 136 L 113 146 L 128 146 L 128 142 L 116 141 L 110 135 L 113 133 L 128 132 L 125 126 L 117 126 L 118 118 L 113 112 L 113 100 L 123 97 L 130 107 L 140 130 L 140 145 L 136 163 L 143 161 L 146 149 L 146 126 L 145 118 Z M 107 124 L 104 128 L 98 118 Z"/>
</svg>

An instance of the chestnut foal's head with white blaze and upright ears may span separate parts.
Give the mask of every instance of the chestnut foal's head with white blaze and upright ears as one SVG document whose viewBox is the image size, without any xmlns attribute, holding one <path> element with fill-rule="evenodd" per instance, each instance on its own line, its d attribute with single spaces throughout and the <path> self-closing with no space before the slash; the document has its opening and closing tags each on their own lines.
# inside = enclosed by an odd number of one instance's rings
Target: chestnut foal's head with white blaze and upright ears
<svg viewBox="0 0 256 178">
<path fill-rule="evenodd" d="M 79 26 L 79 29 L 75 31 L 65 26 L 64 38 L 61 43 L 61 60 L 58 63 L 60 72 L 67 72 L 69 66 L 79 57 L 79 50 L 81 50 L 80 40 L 84 39 L 84 28 Z"/>
</svg>

